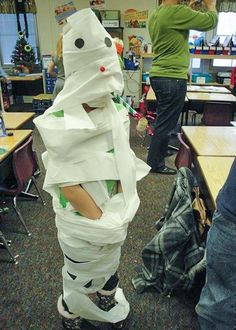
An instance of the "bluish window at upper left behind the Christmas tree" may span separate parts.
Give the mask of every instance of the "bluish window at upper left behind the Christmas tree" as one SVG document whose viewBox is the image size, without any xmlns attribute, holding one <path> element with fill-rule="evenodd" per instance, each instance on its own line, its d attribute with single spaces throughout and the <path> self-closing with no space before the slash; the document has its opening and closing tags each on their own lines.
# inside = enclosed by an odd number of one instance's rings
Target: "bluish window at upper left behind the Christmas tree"
<svg viewBox="0 0 236 330">
<path fill-rule="evenodd" d="M 28 42 L 34 49 L 36 58 L 37 51 L 37 30 L 35 24 L 35 15 L 26 14 L 29 38 Z M 20 24 L 24 28 L 24 16 L 20 14 Z M 11 55 L 15 49 L 16 40 L 18 39 L 17 21 L 15 14 L 0 14 L 0 61 L 2 65 L 12 65 Z"/>
</svg>

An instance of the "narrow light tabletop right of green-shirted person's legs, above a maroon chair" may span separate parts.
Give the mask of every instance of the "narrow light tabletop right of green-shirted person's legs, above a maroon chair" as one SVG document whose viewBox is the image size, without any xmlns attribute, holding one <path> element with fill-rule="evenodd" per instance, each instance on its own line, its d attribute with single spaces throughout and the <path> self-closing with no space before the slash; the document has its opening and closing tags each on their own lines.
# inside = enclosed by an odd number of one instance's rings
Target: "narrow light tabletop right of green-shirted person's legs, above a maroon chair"
<svg viewBox="0 0 236 330">
<path fill-rule="evenodd" d="M 189 101 L 236 102 L 233 94 L 187 92 Z"/>
</svg>

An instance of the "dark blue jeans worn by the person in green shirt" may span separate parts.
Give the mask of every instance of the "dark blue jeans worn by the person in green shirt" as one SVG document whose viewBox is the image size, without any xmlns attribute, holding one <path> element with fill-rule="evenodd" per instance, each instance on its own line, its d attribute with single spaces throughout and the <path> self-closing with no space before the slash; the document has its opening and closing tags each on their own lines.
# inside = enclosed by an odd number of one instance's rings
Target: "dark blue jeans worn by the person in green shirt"
<svg viewBox="0 0 236 330">
<path fill-rule="evenodd" d="M 147 163 L 154 171 L 165 168 L 169 134 L 175 128 L 184 107 L 187 80 L 152 77 L 151 86 L 157 98 L 157 119 Z"/>
</svg>

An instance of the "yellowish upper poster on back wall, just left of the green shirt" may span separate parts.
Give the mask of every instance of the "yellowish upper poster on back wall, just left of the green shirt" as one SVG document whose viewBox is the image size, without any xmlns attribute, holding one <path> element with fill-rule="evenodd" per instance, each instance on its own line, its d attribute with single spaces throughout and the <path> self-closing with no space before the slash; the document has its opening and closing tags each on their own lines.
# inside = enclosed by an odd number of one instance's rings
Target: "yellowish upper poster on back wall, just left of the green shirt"
<svg viewBox="0 0 236 330">
<path fill-rule="evenodd" d="M 147 19 L 148 10 L 127 9 L 124 13 L 125 27 L 127 28 L 146 28 Z"/>
</svg>

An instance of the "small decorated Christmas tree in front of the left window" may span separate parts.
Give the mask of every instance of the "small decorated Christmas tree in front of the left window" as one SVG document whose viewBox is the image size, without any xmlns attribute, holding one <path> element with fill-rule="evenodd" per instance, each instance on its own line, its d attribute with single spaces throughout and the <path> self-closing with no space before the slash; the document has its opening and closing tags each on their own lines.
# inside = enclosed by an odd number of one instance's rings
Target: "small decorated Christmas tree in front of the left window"
<svg viewBox="0 0 236 330">
<path fill-rule="evenodd" d="M 36 58 L 34 50 L 25 39 L 24 32 L 19 32 L 19 38 L 11 55 L 11 62 L 16 68 L 21 68 L 21 71 L 24 71 L 24 68 L 28 68 L 29 71 L 33 69 Z"/>
</svg>

